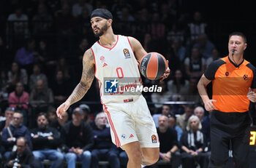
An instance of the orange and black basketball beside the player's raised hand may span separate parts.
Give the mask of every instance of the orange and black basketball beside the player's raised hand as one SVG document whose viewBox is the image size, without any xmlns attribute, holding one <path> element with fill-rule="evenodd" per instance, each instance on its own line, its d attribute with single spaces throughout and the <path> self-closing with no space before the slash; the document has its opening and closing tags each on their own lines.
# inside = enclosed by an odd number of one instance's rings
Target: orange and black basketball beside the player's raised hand
<svg viewBox="0 0 256 168">
<path fill-rule="evenodd" d="M 165 57 L 157 52 L 149 52 L 140 60 L 140 73 L 149 80 L 158 80 L 167 69 Z"/>
</svg>

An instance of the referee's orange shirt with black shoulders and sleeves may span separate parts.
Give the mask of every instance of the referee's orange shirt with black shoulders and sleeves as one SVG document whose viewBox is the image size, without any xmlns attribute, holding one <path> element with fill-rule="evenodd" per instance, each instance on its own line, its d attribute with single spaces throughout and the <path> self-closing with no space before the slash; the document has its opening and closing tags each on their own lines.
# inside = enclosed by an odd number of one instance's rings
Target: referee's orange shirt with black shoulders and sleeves
<svg viewBox="0 0 256 168">
<path fill-rule="evenodd" d="M 230 58 L 215 60 L 206 69 L 206 79 L 212 81 L 212 99 L 215 110 L 226 113 L 249 111 L 249 100 L 246 97 L 249 87 L 256 88 L 256 68 L 246 60 L 240 65 Z"/>
</svg>

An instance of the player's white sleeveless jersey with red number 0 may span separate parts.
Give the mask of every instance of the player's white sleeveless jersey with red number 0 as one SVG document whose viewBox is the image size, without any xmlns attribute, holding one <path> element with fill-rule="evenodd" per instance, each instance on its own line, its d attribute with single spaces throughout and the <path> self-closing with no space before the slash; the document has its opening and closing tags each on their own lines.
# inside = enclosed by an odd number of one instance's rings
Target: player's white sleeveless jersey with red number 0
<svg viewBox="0 0 256 168">
<path fill-rule="evenodd" d="M 138 79 L 141 81 L 138 68 L 139 63 L 132 51 L 128 37 L 118 35 L 116 44 L 111 48 L 102 46 L 99 44 L 99 41 L 97 41 L 91 47 L 91 51 L 94 55 L 95 76 L 99 81 L 102 104 L 138 98 L 139 95 L 125 95 L 120 92 L 113 94 L 106 93 L 106 91 L 108 91 L 107 89 L 113 89 L 113 85 L 115 84 L 111 83 L 111 86 L 108 86 L 106 83 L 108 82 L 108 80 L 106 80 L 108 78 L 115 78 L 116 81 L 125 78 L 129 80 L 134 79 L 134 82 L 139 82 Z"/>
</svg>

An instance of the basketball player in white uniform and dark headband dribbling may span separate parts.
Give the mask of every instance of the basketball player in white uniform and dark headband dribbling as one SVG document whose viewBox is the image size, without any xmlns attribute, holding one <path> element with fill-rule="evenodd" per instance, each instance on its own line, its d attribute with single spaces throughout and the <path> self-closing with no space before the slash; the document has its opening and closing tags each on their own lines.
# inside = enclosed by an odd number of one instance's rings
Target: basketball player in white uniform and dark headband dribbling
<svg viewBox="0 0 256 168">
<path fill-rule="evenodd" d="M 86 94 L 96 76 L 112 141 L 127 152 L 127 167 L 140 168 L 140 164 L 151 165 L 159 159 L 157 129 L 146 100 L 142 95 L 105 95 L 103 86 L 104 77 L 140 78 L 138 60 L 147 52 L 137 39 L 114 34 L 112 22 L 113 17 L 107 9 L 95 9 L 91 13 L 91 28 L 99 41 L 85 52 L 80 83 L 56 113 L 61 118 L 70 105 Z M 161 80 L 169 74 L 167 68 Z"/>
</svg>

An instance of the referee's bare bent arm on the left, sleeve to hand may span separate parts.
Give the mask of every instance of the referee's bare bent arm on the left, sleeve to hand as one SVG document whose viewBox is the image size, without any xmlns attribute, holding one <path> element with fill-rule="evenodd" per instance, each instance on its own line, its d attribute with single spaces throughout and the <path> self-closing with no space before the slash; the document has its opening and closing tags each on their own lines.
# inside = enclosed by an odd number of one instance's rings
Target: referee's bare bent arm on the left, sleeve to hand
<svg viewBox="0 0 256 168">
<path fill-rule="evenodd" d="M 213 102 L 216 102 L 216 100 L 210 100 L 210 98 L 207 95 L 206 86 L 211 82 L 211 80 L 208 80 L 206 76 L 203 74 L 198 81 L 197 89 L 200 94 L 200 97 L 203 100 L 203 103 L 205 105 L 206 111 L 214 110 L 215 106 Z"/>
</svg>

